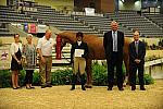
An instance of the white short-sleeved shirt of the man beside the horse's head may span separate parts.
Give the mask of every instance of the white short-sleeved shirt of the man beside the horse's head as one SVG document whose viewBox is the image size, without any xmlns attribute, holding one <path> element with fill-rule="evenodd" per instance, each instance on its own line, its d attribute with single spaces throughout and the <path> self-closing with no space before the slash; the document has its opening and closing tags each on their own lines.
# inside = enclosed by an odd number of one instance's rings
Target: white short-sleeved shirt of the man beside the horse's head
<svg viewBox="0 0 163 109">
<path fill-rule="evenodd" d="M 38 40 L 37 47 L 41 50 L 42 56 L 52 56 L 52 47 L 55 45 L 55 41 L 50 38 L 47 40 L 47 38 L 43 36 Z"/>
</svg>

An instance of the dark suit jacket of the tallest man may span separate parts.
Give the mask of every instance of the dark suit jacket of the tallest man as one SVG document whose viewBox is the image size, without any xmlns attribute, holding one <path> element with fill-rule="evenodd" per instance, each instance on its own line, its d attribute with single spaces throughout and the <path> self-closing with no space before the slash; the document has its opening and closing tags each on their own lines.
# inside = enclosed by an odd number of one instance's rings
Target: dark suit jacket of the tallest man
<svg viewBox="0 0 163 109">
<path fill-rule="evenodd" d="M 103 36 L 103 47 L 105 51 L 105 57 L 111 57 L 113 52 L 113 38 L 112 31 L 108 32 Z M 124 47 L 124 33 L 117 31 L 117 52 L 123 56 Z"/>
</svg>

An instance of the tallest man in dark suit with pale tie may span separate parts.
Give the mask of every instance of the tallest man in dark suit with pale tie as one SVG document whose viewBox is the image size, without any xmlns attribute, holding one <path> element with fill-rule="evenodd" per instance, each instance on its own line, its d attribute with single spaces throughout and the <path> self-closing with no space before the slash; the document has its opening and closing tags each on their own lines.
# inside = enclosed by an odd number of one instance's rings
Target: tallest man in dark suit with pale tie
<svg viewBox="0 0 163 109">
<path fill-rule="evenodd" d="M 112 31 L 104 34 L 103 46 L 105 50 L 105 58 L 108 63 L 108 90 L 112 90 L 114 81 L 114 66 L 116 66 L 117 87 L 120 90 L 123 88 L 123 47 L 124 47 L 124 33 L 117 31 L 118 24 L 113 21 L 111 23 Z"/>
</svg>

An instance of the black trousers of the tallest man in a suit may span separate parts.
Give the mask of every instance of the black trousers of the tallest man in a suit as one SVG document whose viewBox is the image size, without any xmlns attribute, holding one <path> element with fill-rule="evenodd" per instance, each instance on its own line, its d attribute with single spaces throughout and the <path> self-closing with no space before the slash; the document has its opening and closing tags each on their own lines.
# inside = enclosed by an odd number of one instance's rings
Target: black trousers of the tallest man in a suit
<svg viewBox="0 0 163 109">
<path fill-rule="evenodd" d="M 114 68 L 116 68 L 116 80 L 117 80 L 117 87 L 123 87 L 124 75 L 122 70 L 123 64 L 123 55 L 118 52 L 112 52 L 110 58 L 106 58 L 108 63 L 108 83 L 109 87 L 113 87 L 114 82 Z"/>
</svg>

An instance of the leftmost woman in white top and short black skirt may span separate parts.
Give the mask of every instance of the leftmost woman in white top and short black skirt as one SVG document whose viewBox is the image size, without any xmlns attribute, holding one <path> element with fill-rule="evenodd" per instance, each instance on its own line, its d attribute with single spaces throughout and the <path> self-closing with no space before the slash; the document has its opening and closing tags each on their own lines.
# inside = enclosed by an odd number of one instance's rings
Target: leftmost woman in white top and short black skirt
<svg viewBox="0 0 163 109">
<path fill-rule="evenodd" d="M 12 86 L 13 89 L 20 88 L 18 86 L 18 72 L 22 70 L 21 58 L 22 58 L 22 44 L 20 43 L 20 35 L 14 35 L 15 43 L 11 45 L 11 70 L 12 70 Z"/>
</svg>

